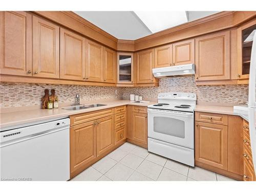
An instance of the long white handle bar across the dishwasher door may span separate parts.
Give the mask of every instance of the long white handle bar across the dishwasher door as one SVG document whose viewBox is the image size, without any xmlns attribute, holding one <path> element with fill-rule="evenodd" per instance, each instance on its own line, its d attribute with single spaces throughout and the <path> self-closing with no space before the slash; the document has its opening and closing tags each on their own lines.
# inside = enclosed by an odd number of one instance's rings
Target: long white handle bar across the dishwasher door
<svg viewBox="0 0 256 192">
<path fill-rule="evenodd" d="M 41 136 L 48 135 L 48 134 L 51 134 L 51 133 L 55 133 L 55 132 L 58 132 L 58 131 L 66 130 L 66 129 L 69 129 L 69 126 L 61 127 L 60 129 L 58 128 L 58 129 L 52 129 L 52 130 L 48 130 L 48 131 L 44 131 L 44 132 L 39 132 L 39 133 L 35 133 L 35 134 L 28 135 L 28 136 L 25 136 L 25 137 L 21 137 L 21 138 L 13 139 L 13 140 L 10 140 L 10 141 L 6 141 L 6 142 L 1 143 L 0 148 L 8 146 L 8 145 L 15 144 L 15 143 L 20 143 L 20 142 L 23 142 L 23 141 L 27 141 L 29 139 L 33 139 L 33 138 L 36 138 L 36 137 L 41 137 Z"/>
</svg>

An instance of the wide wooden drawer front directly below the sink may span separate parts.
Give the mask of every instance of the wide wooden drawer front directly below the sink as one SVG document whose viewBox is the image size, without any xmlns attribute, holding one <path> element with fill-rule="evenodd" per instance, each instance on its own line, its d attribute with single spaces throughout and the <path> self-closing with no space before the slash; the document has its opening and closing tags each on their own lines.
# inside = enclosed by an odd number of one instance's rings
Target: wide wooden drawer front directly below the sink
<svg viewBox="0 0 256 192">
<path fill-rule="evenodd" d="M 93 112 L 88 112 L 88 113 L 82 113 L 82 114 L 77 114 L 77 115 L 71 115 L 70 116 L 70 126 L 88 122 L 88 121 L 92 121 L 92 120 L 99 119 L 102 117 L 107 117 L 110 115 L 114 115 L 113 108 L 99 110 L 99 111 L 93 111 Z"/>
</svg>

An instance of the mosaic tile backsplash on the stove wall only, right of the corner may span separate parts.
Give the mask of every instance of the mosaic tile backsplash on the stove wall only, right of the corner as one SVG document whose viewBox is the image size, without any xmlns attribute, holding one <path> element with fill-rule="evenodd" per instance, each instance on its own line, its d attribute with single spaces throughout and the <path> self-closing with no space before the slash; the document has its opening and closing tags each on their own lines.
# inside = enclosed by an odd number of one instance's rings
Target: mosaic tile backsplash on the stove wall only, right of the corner
<svg viewBox="0 0 256 192">
<path fill-rule="evenodd" d="M 195 77 L 161 78 L 159 87 L 123 88 L 122 96 L 129 98 L 130 94 L 142 95 L 143 98 L 157 98 L 163 92 L 190 92 L 197 94 L 197 101 L 245 103 L 248 101 L 248 85 L 196 86 Z"/>
</svg>

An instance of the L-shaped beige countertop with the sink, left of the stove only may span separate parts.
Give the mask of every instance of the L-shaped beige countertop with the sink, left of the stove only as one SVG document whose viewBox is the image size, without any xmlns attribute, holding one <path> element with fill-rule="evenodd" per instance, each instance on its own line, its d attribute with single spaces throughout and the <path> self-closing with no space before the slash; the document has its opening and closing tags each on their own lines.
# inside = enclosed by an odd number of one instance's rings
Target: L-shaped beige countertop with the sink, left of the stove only
<svg viewBox="0 0 256 192">
<path fill-rule="evenodd" d="M 88 102 L 89 103 L 89 102 Z M 92 102 L 90 102 L 92 103 Z M 147 103 L 135 103 L 130 100 L 112 100 L 112 101 L 99 101 L 96 100 L 94 103 L 106 104 L 105 106 L 98 106 L 96 108 L 89 108 L 84 110 L 76 110 L 76 111 L 68 111 L 63 110 L 61 108 L 52 109 L 52 110 L 42 110 L 42 109 L 34 109 L 34 110 L 26 110 L 26 111 L 16 111 L 16 112 L 7 112 L 0 114 L 0 127 L 1 129 L 9 126 L 20 126 L 22 124 L 36 122 L 36 121 L 45 121 L 49 119 L 56 119 L 61 117 L 68 117 L 70 115 L 86 113 L 91 111 L 97 111 L 107 108 L 113 108 L 115 106 L 121 105 L 140 105 L 147 106 L 150 104 L 154 104 L 156 102 L 147 102 Z M 81 102 L 81 104 L 87 104 Z"/>
</svg>

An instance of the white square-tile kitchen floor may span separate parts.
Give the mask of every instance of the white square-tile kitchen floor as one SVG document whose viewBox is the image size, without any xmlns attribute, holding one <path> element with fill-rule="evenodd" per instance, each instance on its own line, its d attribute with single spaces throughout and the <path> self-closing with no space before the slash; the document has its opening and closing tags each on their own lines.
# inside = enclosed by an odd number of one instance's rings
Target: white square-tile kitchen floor
<svg viewBox="0 0 256 192">
<path fill-rule="evenodd" d="M 124 143 L 71 181 L 234 181 Z"/>
</svg>

